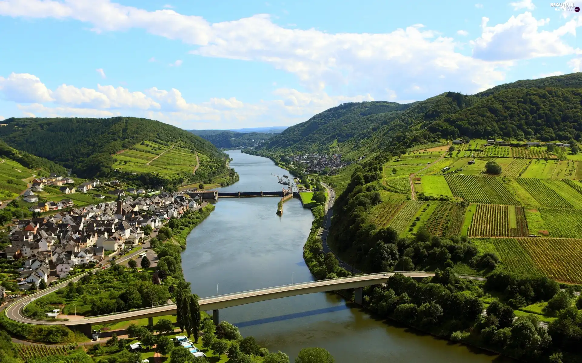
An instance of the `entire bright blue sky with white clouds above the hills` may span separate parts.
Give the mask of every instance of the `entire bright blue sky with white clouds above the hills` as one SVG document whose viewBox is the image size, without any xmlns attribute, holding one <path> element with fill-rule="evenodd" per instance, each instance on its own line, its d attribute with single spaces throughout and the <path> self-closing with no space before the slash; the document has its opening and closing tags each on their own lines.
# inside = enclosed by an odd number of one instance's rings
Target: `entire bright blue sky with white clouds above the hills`
<svg viewBox="0 0 582 363">
<path fill-rule="evenodd" d="M 521 1 L 0 0 L 0 118 L 292 125 L 580 71 L 580 13 Z"/>
</svg>

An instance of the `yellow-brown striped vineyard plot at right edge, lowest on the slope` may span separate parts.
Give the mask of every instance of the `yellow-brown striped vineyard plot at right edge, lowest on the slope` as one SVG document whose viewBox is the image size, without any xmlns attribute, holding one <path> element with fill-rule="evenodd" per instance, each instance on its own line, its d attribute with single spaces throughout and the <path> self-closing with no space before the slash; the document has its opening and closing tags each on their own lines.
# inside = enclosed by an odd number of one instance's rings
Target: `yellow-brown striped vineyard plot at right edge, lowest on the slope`
<svg viewBox="0 0 582 363">
<path fill-rule="evenodd" d="M 519 238 L 535 265 L 561 282 L 582 283 L 582 240 L 573 238 Z"/>
</svg>

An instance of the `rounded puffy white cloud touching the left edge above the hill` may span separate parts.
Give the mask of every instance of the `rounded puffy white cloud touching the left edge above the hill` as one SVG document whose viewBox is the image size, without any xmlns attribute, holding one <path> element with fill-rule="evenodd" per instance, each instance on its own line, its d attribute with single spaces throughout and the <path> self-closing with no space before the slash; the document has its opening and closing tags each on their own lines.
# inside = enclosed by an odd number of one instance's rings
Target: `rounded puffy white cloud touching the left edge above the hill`
<svg viewBox="0 0 582 363">
<path fill-rule="evenodd" d="M 0 76 L 0 91 L 6 100 L 14 102 L 49 102 L 52 97 L 47 86 L 29 73 L 10 73 L 8 78 Z"/>
</svg>

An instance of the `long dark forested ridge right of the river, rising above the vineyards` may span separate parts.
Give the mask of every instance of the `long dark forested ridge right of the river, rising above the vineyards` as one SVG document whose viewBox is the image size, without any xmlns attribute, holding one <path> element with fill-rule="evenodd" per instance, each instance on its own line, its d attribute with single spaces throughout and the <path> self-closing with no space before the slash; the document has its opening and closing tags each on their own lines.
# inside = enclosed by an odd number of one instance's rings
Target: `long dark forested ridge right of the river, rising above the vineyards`
<svg viewBox="0 0 582 363">
<path fill-rule="evenodd" d="M 342 152 L 342 159 L 378 150 L 402 152 L 441 138 L 569 141 L 582 132 L 582 73 L 523 80 L 475 95 L 445 92 L 399 105 L 345 103 L 289 127 L 262 154 Z"/>
</svg>

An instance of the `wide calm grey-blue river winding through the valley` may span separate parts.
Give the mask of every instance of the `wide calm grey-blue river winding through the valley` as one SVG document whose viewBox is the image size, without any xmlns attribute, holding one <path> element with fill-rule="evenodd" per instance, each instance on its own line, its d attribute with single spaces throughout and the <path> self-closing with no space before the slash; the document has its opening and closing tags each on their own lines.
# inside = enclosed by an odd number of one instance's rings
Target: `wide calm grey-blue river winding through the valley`
<svg viewBox="0 0 582 363">
<path fill-rule="evenodd" d="M 271 175 L 289 175 L 264 157 L 228 152 L 240 181 L 221 191 L 279 191 Z M 290 176 L 290 175 L 289 175 Z M 275 214 L 277 197 L 221 199 L 187 238 L 184 276 L 200 297 L 312 281 L 302 248 L 313 217 L 298 200 Z M 505 358 L 402 326 L 377 321 L 331 293 L 262 301 L 220 311 L 221 320 L 239 326 L 261 346 L 294 360 L 303 347 L 329 350 L 338 363 L 505 362 Z"/>
</svg>

